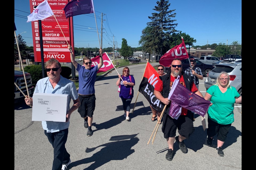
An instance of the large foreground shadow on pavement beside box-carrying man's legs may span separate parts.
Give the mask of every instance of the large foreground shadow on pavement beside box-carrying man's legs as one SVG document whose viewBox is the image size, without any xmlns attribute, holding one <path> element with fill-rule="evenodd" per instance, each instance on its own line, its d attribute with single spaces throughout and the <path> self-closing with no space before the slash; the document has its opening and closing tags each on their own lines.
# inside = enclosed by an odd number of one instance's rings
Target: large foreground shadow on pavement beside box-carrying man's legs
<svg viewBox="0 0 256 170">
<path fill-rule="evenodd" d="M 127 156 L 135 152 L 134 149 L 131 149 L 131 147 L 136 145 L 139 141 L 136 135 L 137 134 L 113 136 L 111 137 L 110 141 L 115 142 L 109 142 L 94 148 L 86 148 L 85 152 L 88 153 L 94 151 L 99 147 L 103 147 L 100 151 L 93 154 L 93 156 L 91 156 L 90 158 L 84 158 L 75 162 L 71 162 L 69 165 L 69 169 L 90 162 L 94 163 L 85 169 L 97 169 L 98 167 L 104 165 L 107 162 L 110 162 L 111 160 L 123 160 L 127 158 Z"/>
</svg>

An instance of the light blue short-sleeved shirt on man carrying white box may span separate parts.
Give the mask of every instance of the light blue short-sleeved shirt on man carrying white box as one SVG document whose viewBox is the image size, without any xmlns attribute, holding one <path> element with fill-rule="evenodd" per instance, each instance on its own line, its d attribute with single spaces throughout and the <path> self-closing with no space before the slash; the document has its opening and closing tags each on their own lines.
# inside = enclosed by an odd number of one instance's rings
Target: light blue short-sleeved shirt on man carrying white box
<svg viewBox="0 0 256 170">
<path fill-rule="evenodd" d="M 66 79 L 60 76 L 60 80 L 53 89 L 49 81 L 49 77 L 42 78 L 38 80 L 37 85 L 35 86 L 34 93 L 51 93 L 51 94 L 67 94 L 68 102 L 67 102 L 67 110 L 70 109 L 70 102 L 72 100 L 78 99 L 77 89 L 75 87 L 75 83 L 69 79 Z M 53 121 L 42 121 L 43 129 L 47 132 L 58 132 L 63 129 L 69 128 L 68 122 L 53 122 Z"/>
</svg>

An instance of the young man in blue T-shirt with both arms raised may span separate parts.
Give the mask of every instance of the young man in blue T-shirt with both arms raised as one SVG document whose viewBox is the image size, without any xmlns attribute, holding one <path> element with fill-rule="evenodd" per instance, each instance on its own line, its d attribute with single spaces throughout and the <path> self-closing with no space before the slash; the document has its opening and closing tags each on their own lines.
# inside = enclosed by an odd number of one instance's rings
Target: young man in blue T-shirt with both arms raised
<svg viewBox="0 0 256 170">
<path fill-rule="evenodd" d="M 99 49 L 99 64 L 91 67 L 91 59 L 89 57 L 83 58 L 83 66 L 75 61 L 74 55 L 71 53 L 72 47 L 68 45 L 70 50 L 70 59 L 75 69 L 78 71 L 79 77 L 79 89 L 78 95 L 81 101 L 81 105 L 78 108 L 78 112 L 84 119 L 83 125 L 87 130 L 87 136 L 93 135 L 91 130 L 91 124 L 93 122 L 93 112 L 95 110 L 95 89 L 94 84 L 96 80 L 97 71 L 103 66 L 102 49 Z"/>
</svg>

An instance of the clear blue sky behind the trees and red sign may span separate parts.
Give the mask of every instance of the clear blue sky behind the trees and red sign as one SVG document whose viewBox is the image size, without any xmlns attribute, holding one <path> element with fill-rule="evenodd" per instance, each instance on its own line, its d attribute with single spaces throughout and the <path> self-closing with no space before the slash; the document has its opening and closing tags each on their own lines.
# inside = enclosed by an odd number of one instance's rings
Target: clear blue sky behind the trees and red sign
<svg viewBox="0 0 256 170">
<path fill-rule="evenodd" d="M 98 29 L 103 15 L 103 48 L 121 48 L 122 38 L 131 47 L 138 47 L 141 31 L 150 22 L 148 16 L 155 12 L 156 0 L 103 1 L 94 0 Z M 170 0 L 169 10 L 175 10 L 177 30 L 189 34 L 197 40 L 194 45 L 228 43 L 238 41 L 242 44 L 242 1 L 241 0 Z M 29 0 L 14 0 L 14 22 L 16 34 L 22 33 L 28 46 L 33 46 Z M 75 47 L 99 47 L 94 14 L 73 17 Z M 88 28 L 93 29 L 88 29 Z M 101 37 L 99 36 L 99 39 Z M 109 45 L 111 44 L 111 45 Z"/>
</svg>

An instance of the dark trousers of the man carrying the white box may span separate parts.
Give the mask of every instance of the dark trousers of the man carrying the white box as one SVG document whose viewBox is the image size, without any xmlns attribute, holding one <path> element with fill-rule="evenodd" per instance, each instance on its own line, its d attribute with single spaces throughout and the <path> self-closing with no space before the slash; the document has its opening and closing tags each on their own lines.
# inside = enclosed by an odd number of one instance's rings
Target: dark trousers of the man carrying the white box
<svg viewBox="0 0 256 170">
<path fill-rule="evenodd" d="M 69 128 L 54 133 L 47 133 L 45 130 L 45 135 L 53 146 L 52 170 L 60 170 L 62 168 L 62 165 L 67 164 L 70 160 L 70 155 L 69 153 L 67 153 L 67 150 L 65 148 L 68 133 Z"/>
</svg>

